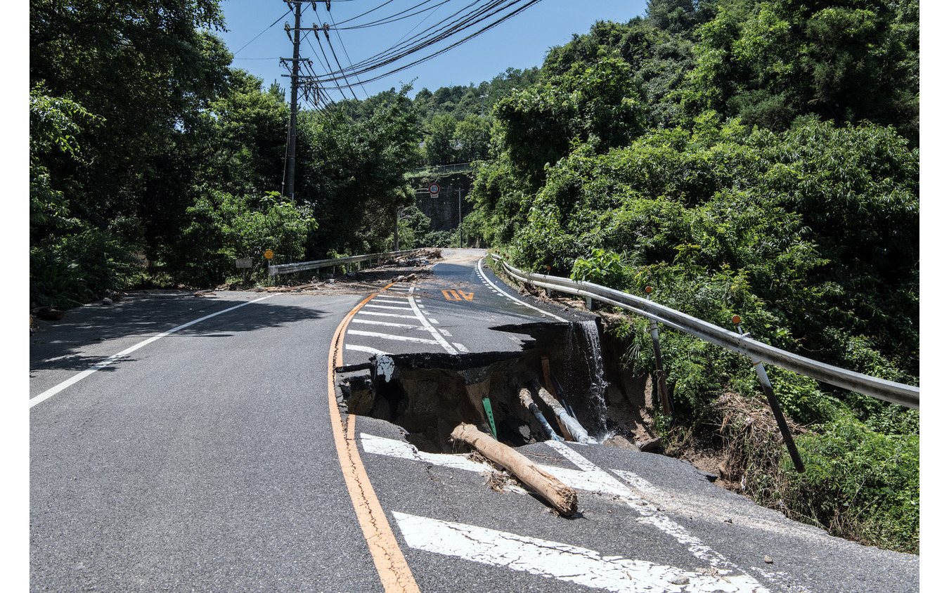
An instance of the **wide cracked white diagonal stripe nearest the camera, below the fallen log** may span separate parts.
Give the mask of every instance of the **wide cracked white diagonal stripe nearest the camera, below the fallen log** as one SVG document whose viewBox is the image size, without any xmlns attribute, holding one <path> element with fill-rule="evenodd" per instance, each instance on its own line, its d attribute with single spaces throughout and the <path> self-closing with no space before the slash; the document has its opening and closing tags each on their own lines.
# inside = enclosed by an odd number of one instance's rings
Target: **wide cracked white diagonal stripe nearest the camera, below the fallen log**
<svg viewBox="0 0 949 593">
<path fill-rule="evenodd" d="M 549 579 L 617 593 L 758 593 L 747 575 L 707 576 L 675 566 L 628 560 L 586 547 L 516 535 L 462 523 L 393 512 L 409 547 L 454 556 L 482 565 L 506 566 Z M 687 579 L 687 584 L 673 584 Z"/>
</svg>

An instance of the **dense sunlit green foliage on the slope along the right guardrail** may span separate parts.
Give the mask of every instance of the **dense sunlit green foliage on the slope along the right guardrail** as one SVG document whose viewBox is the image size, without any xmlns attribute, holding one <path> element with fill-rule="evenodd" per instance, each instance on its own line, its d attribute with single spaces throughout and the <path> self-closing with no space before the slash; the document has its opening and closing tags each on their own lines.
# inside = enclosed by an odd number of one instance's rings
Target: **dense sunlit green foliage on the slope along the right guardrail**
<svg viewBox="0 0 949 593">
<path fill-rule="evenodd" d="M 474 183 L 482 233 L 522 269 L 655 287 L 714 324 L 740 315 L 764 343 L 919 384 L 918 37 L 917 2 L 872 0 L 656 0 L 645 18 L 598 23 L 494 108 Z M 644 330 L 615 331 L 648 373 Z M 674 331 L 661 348 L 664 430 L 721 426 L 723 394 L 761 397 L 738 355 Z M 785 454 L 748 469 L 750 490 L 918 551 L 919 414 L 769 372 L 810 427 L 809 469 L 793 474 Z"/>
</svg>

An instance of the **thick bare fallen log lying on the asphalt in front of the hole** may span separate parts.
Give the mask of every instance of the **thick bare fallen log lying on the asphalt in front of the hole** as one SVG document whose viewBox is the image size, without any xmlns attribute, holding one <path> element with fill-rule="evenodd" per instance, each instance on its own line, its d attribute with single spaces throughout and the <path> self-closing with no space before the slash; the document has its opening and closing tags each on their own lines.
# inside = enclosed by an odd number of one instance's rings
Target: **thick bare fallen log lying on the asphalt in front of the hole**
<svg viewBox="0 0 949 593">
<path fill-rule="evenodd" d="M 458 424 L 452 431 L 452 438 L 468 443 L 475 451 L 511 472 L 530 490 L 543 496 L 557 514 L 569 517 L 577 511 L 577 491 L 541 470 L 511 447 L 477 430 L 474 425 L 464 422 Z"/>
</svg>

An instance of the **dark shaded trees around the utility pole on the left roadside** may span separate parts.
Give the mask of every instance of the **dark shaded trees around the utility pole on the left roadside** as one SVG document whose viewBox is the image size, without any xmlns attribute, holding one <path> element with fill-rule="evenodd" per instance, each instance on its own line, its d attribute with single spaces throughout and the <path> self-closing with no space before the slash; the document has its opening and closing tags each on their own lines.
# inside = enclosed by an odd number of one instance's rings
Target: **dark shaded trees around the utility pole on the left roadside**
<svg viewBox="0 0 949 593">
<path fill-rule="evenodd" d="M 30 2 L 30 293 L 73 306 L 137 284 L 207 286 L 234 257 L 384 250 L 419 162 L 408 89 L 299 118 L 231 67 L 215 0 Z M 485 144 L 465 123 L 466 142 Z M 478 148 L 478 150 L 481 150 Z"/>
</svg>

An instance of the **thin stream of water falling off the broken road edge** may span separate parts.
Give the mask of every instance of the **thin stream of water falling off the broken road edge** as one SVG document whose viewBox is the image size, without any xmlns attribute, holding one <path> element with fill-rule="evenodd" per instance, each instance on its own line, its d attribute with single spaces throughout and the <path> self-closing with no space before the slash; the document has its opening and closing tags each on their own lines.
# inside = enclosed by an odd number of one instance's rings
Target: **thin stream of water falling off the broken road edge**
<svg viewBox="0 0 949 593">
<path fill-rule="evenodd" d="M 573 384 L 580 390 L 586 387 L 586 393 L 578 391 L 578 397 L 573 398 L 579 404 L 575 407 L 586 409 L 587 421 L 593 423 L 585 427 L 587 432 L 598 442 L 603 442 L 612 435 L 606 431 L 606 381 L 603 378 L 600 332 L 592 320 L 575 322 L 573 327 L 568 341 L 568 360 L 586 364 L 586 368 L 576 368 L 573 374 Z"/>
</svg>

